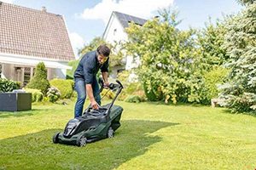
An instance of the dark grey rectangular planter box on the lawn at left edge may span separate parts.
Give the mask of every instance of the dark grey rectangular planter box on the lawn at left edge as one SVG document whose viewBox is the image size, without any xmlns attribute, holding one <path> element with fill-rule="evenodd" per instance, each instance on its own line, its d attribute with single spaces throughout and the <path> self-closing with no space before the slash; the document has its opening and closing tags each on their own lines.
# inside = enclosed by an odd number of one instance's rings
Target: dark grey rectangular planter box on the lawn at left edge
<svg viewBox="0 0 256 170">
<path fill-rule="evenodd" d="M 27 111 L 31 108 L 30 93 L 0 93 L 0 111 Z"/>
</svg>

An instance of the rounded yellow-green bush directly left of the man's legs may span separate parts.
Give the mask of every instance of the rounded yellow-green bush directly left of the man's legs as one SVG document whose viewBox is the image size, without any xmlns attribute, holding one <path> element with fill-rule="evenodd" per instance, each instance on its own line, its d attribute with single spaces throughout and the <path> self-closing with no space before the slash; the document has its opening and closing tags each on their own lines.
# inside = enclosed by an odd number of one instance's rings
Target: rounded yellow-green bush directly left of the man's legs
<svg viewBox="0 0 256 170">
<path fill-rule="evenodd" d="M 61 93 L 61 99 L 70 99 L 73 94 L 73 80 L 64 80 L 64 79 L 53 79 L 49 81 L 50 86 L 58 88 Z"/>
</svg>

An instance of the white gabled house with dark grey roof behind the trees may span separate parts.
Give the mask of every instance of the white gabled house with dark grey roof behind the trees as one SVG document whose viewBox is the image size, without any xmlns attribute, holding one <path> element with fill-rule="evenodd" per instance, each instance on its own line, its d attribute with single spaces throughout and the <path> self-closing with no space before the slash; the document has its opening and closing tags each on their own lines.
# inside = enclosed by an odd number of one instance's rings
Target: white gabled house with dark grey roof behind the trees
<svg viewBox="0 0 256 170">
<path fill-rule="evenodd" d="M 117 11 L 113 11 L 108 20 L 108 25 L 103 33 L 103 39 L 106 42 L 114 43 L 114 42 L 125 42 L 128 41 L 127 33 L 125 32 L 125 28 L 129 26 L 131 22 L 139 26 L 143 26 L 147 20 L 131 16 L 129 14 L 119 13 Z M 138 65 L 138 61 L 133 60 L 132 56 L 126 56 L 125 66 L 117 66 L 113 68 L 113 77 L 116 77 L 119 71 L 130 70 Z"/>
</svg>

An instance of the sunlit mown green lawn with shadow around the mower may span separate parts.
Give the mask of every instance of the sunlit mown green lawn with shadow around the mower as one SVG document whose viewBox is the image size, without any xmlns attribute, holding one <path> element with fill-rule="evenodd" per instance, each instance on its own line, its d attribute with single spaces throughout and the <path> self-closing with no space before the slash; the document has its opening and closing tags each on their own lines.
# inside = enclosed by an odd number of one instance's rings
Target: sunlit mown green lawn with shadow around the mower
<svg viewBox="0 0 256 170">
<path fill-rule="evenodd" d="M 254 169 L 256 117 L 209 106 L 130 104 L 113 139 L 53 144 L 68 105 L 0 113 L 0 169 Z"/>
</svg>

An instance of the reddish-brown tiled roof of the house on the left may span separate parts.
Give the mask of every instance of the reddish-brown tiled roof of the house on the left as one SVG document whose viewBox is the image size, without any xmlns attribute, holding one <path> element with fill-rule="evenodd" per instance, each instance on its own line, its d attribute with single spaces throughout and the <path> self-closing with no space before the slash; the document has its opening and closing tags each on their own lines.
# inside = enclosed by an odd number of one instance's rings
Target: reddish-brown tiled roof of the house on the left
<svg viewBox="0 0 256 170">
<path fill-rule="evenodd" d="M 0 53 L 75 59 L 61 15 L 1 1 Z"/>
</svg>

